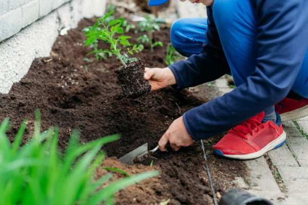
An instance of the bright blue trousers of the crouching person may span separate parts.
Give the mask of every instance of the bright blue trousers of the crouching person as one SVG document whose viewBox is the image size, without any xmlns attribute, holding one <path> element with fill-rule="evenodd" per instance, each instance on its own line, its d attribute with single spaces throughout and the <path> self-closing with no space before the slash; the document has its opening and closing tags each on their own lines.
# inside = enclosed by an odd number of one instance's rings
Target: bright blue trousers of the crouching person
<svg viewBox="0 0 308 205">
<path fill-rule="evenodd" d="M 239 86 L 256 68 L 257 18 L 251 1 L 218 2 L 213 5 L 214 20 L 230 71 Z M 171 27 L 172 45 L 184 56 L 199 54 L 207 42 L 206 31 L 206 18 L 179 19 Z M 308 98 L 308 50 L 292 90 Z"/>
</svg>

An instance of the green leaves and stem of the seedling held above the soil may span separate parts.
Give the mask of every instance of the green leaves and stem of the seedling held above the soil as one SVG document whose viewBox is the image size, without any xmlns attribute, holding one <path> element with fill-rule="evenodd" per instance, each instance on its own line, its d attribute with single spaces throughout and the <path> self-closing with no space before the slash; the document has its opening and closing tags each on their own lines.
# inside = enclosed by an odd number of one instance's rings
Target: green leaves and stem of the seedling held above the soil
<svg viewBox="0 0 308 205">
<path fill-rule="evenodd" d="M 131 45 L 128 41 L 130 36 L 123 35 L 123 18 L 113 19 L 107 22 L 106 19 L 113 15 L 114 11 L 110 11 L 103 17 L 98 18 L 95 24 L 86 32 L 86 46 L 90 46 L 97 40 L 103 40 L 110 44 L 110 49 L 98 49 L 93 51 L 96 53 L 106 53 L 109 56 L 115 55 L 121 61 L 123 66 L 129 61 L 136 61 L 136 58 L 130 58 L 129 55 L 139 53 L 143 50 L 142 45 Z M 120 47 L 126 47 L 126 51 Z"/>
</svg>

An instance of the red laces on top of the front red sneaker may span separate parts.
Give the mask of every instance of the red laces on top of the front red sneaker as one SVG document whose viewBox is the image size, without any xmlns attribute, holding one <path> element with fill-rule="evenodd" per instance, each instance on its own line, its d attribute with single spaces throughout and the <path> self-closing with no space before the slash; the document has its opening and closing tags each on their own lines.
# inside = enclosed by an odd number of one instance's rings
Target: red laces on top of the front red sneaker
<svg viewBox="0 0 308 205">
<path fill-rule="evenodd" d="M 259 129 L 264 128 L 264 124 L 262 124 L 259 120 L 257 119 L 247 119 L 244 121 L 242 124 L 232 128 L 229 133 L 236 134 L 244 139 L 247 139 L 247 134 L 250 133 L 251 135 L 253 134 L 253 130 L 256 129 L 256 132 L 259 131 Z"/>
</svg>

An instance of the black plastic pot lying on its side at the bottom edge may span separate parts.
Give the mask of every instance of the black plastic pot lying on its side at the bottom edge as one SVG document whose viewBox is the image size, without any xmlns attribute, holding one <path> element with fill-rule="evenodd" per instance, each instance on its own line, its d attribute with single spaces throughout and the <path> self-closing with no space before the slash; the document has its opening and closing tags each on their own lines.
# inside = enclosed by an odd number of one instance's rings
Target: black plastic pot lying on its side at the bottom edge
<svg viewBox="0 0 308 205">
<path fill-rule="evenodd" d="M 263 197 L 254 196 L 241 189 L 229 189 L 220 199 L 219 205 L 274 205 Z"/>
</svg>

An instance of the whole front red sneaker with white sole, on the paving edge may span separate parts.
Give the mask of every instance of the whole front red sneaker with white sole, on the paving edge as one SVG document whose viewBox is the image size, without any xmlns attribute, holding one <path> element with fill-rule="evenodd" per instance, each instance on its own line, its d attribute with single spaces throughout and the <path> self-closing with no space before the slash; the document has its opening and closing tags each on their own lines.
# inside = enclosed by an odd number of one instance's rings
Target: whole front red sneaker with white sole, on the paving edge
<svg viewBox="0 0 308 205">
<path fill-rule="evenodd" d="M 247 119 L 231 129 L 215 146 L 214 154 L 234 159 L 254 159 L 269 150 L 282 146 L 286 134 L 277 115 L 277 126 L 272 120 L 262 123 L 264 112 Z"/>
</svg>

